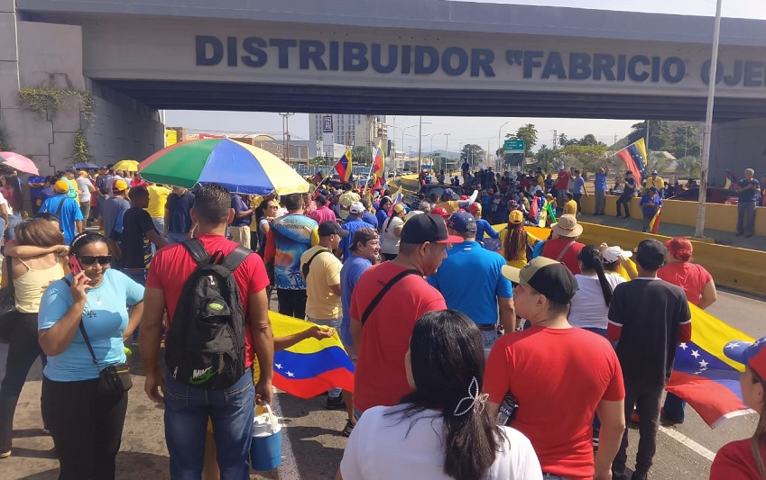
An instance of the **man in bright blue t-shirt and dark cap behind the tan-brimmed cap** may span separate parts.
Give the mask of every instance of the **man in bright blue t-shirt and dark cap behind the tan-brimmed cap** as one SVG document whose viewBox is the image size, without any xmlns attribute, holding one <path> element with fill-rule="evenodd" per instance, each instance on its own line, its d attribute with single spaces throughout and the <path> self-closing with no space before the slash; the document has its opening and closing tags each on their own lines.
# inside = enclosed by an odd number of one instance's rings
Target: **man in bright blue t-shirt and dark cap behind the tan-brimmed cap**
<svg viewBox="0 0 766 480">
<path fill-rule="evenodd" d="M 476 242 L 476 221 L 470 213 L 452 213 L 447 228 L 465 241 L 453 245 L 438 271 L 426 279 L 444 296 L 448 308 L 476 322 L 488 354 L 497 340 L 498 308 L 503 329 L 516 330 L 512 285 L 501 271 L 505 259 Z"/>
</svg>

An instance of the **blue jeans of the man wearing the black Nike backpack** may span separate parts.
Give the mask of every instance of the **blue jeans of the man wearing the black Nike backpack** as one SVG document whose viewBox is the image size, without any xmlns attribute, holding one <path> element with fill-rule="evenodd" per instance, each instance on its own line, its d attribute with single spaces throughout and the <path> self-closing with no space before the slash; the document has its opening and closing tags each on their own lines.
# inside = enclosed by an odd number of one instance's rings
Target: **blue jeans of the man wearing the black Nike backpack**
<svg viewBox="0 0 766 480">
<path fill-rule="evenodd" d="M 165 376 L 165 441 L 173 480 L 199 480 L 205 458 L 208 418 L 213 423 L 223 480 L 250 478 L 255 385 L 253 369 L 226 389 L 202 390 Z"/>
</svg>

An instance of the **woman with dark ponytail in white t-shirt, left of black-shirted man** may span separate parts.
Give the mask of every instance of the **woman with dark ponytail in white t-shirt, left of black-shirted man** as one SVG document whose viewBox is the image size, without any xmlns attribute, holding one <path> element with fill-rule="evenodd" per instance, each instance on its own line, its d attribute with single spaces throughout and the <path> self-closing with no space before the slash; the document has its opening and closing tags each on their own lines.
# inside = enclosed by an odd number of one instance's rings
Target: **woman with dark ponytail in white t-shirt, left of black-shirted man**
<svg viewBox="0 0 766 480">
<path fill-rule="evenodd" d="M 577 294 L 572 297 L 569 323 L 573 327 L 593 331 L 606 338 L 609 303 L 614 287 L 625 282 L 622 276 L 605 275 L 601 250 L 587 245 L 577 254 Z"/>
</svg>

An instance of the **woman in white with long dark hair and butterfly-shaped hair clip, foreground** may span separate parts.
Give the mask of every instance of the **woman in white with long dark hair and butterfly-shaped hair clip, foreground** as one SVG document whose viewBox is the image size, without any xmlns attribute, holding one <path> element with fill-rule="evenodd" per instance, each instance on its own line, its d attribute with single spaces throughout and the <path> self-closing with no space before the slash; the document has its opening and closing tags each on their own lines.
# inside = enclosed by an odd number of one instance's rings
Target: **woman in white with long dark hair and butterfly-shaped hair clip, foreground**
<svg viewBox="0 0 766 480">
<path fill-rule="evenodd" d="M 485 409 L 484 343 L 466 315 L 420 317 L 404 364 L 412 393 L 398 405 L 365 411 L 337 479 L 542 478 L 530 440 L 498 426 Z"/>
</svg>

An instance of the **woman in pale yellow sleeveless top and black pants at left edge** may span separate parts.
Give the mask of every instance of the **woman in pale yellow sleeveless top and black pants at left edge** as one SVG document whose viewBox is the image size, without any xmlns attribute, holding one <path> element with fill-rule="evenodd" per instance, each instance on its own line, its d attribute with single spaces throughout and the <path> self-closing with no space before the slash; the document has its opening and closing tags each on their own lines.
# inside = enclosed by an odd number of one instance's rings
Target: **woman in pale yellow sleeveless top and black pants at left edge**
<svg viewBox="0 0 766 480">
<path fill-rule="evenodd" d="M 2 285 L 13 282 L 15 312 L 5 315 L 0 324 L 9 343 L 0 385 L 0 458 L 11 455 L 14 412 L 29 369 L 38 357 L 43 366 L 46 363 L 37 341 L 37 314 L 45 287 L 64 276 L 64 260 L 59 255 L 66 255 L 68 249 L 63 243 L 58 220 L 46 215 L 22 222 L 16 228 L 16 239 L 5 247 Z"/>
</svg>

